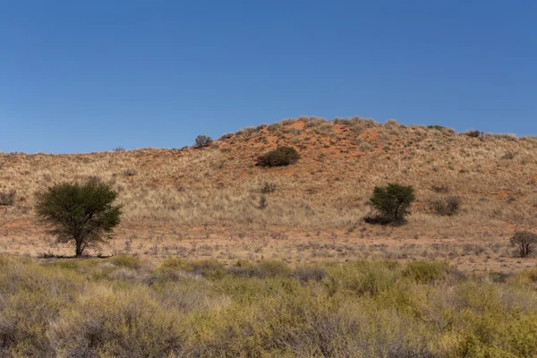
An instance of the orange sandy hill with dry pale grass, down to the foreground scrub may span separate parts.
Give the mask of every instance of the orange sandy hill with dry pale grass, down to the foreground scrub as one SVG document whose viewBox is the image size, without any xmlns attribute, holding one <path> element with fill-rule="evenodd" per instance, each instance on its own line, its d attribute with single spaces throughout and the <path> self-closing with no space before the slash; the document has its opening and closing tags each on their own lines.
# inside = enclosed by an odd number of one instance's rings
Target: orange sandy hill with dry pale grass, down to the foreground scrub
<svg viewBox="0 0 537 358">
<path fill-rule="evenodd" d="M 296 164 L 255 165 L 284 145 L 300 152 Z M 537 224 L 533 137 L 301 117 L 204 148 L 12 153 L 0 155 L 0 166 L 0 192 L 16 191 L 13 205 L 0 207 L 0 250 L 12 254 L 69 253 L 34 223 L 34 194 L 93 178 L 113 183 L 124 205 L 117 238 L 103 253 L 296 263 L 426 258 L 503 271 L 535 265 L 513 258 L 508 246 L 515 230 Z M 416 189 L 405 226 L 362 222 L 373 188 L 386 183 Z M 432 203 L 449 196 L 460 197 L 461 210 L 439 216 Z"/>
</svg>

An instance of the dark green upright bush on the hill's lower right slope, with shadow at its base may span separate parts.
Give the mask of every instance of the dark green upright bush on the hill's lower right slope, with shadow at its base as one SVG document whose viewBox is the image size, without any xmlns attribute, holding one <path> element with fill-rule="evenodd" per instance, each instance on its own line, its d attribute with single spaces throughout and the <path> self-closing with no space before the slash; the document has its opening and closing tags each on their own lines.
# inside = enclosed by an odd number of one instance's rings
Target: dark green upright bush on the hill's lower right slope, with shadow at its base
<svg viewBox="0 0 537 358">
<path fill-rule="evenodd" d="M 376 186 L 370 202 L 378 214 L 376 217 L 368 218 L 368 222 L 375 223 L 401 223 L 405 216 L 410 214 L 410 204 L 415 200 L 415 194 L 412 186 L 405 186 L 397 183 L 388 183 L 386 187 Z"/>
</svg>

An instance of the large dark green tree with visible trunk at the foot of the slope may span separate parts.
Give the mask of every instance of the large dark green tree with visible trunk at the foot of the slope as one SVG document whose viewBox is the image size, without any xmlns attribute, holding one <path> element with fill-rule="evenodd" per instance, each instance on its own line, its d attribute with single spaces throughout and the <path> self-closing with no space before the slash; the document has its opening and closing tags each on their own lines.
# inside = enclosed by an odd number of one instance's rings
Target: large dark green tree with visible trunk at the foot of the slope
<svg viewBox="0 0 537 358">
<path fill-rule="evenodd" d="M 116 198 L 107 183 L 59 183 L 38 194 L 36 216 L 57 243 L 73 242 L 81 257 L 87 247 L 112 238 L 122 214 L 121 206 L 113 205 Z"/>
</svg>

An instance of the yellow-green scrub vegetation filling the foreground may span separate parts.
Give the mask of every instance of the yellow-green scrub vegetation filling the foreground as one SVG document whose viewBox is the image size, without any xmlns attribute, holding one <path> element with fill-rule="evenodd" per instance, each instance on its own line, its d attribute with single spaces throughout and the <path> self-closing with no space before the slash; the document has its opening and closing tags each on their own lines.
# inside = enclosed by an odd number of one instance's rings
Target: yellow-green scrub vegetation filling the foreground
<svg viewBox="0 0 537 358">
<path fill-rule="evenodd" d="M 536 282 L 424 261 L 0 257 L 0 354 L 528 357 Z"/>
</svg>

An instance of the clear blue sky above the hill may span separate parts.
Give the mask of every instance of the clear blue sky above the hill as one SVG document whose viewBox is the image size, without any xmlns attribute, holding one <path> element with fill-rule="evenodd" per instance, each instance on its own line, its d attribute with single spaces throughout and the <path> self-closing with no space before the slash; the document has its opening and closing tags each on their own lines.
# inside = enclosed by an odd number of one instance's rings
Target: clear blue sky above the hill
<svg viewBox="0 0 537 358">
<path fill-rule="evenodd" d="M 535 0 L 4 0 L 0 46 L 6 152 L 298 115 L 537 135 Z"/>
</svg>

